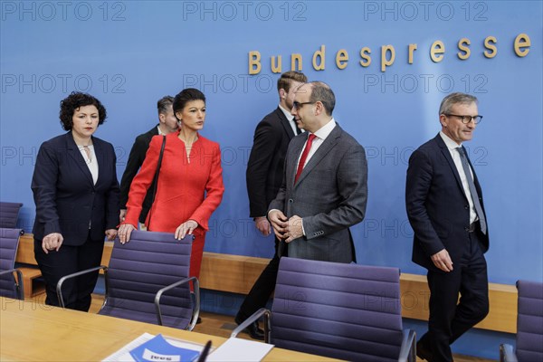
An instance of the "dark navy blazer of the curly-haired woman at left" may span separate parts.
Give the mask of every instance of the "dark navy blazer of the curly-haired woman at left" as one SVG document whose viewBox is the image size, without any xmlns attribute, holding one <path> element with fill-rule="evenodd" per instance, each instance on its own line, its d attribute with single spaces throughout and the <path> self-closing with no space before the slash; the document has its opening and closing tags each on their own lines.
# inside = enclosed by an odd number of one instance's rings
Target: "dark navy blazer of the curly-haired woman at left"
<svg viewBox="0 0 543 362">
<path fill-rule="evenodd" d="M 32 178 L 36 204 L 33 235 L 43 240 L 49 233 L 62 233 L 64 244 L 81 245 L 103 241 L 105 231 L 119 224 L 117 157 L 110 143 L 92 138 L 98 160 L 98 180 L 92 176 L 71 132 L 43 142 Z"/>
</svg>

